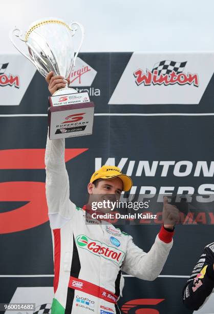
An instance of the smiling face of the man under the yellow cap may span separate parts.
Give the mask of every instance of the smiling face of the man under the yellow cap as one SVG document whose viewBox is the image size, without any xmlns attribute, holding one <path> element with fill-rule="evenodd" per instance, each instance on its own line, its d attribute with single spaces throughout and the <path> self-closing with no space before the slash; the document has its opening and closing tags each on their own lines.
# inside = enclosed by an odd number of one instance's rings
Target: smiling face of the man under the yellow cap
<svg viewBox="0 0 214 314">
<path fill-rule="evenodd" d="M 97 186 L 93 183 L 89 183 L 89 203 L 92 204 L 92 202 L 103 202 L 108 200 L 111 202 L 119 201 L 122 189 L 123 183 L 119 178 L 101 180 L 97 183 Z M 111 208 L 111 206 L 108 208 L 99 208 L 99 211 L 111 212 Z"/>
</svg>

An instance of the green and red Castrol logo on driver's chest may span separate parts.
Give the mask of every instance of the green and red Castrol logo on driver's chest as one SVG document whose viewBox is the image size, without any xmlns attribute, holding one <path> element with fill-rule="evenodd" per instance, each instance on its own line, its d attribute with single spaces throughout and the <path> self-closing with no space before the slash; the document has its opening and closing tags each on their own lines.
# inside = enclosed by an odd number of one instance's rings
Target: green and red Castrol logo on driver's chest
<svg viewBox="0 0 214 314">
<path fill-rule="evenodd" d="M 101 256 L 104 259 L 111 260 L 116 264 L 121 264 L 124 252 L 116 249 L 115 247 L 108 246 L 97 240 L 92 240 L 84 234 L 77 235 L 76 244 L 83 249 L 95 254 L 96 256 Z"/>
</svg>

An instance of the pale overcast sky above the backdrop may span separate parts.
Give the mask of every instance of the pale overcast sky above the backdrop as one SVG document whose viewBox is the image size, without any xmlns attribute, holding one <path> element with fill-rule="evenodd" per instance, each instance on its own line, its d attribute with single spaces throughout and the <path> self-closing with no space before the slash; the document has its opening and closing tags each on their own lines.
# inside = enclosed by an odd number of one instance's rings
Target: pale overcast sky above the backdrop
<svg viewBox="0 0 214 314">
<path fill-rule="evenodd" d="M 1 3 L 1 54 L 17 53 L 9 40 L 41 18 L 59 17 L 85 29 L 82 52 L 214 51 L 213 0 L 10 0 Z M 79 36 L 75 45 L 78 46 Z M 25 43 L 18 43 L 23 50 Z M 25 50 L 26 51 L 26 50 Z"/>
</svg>

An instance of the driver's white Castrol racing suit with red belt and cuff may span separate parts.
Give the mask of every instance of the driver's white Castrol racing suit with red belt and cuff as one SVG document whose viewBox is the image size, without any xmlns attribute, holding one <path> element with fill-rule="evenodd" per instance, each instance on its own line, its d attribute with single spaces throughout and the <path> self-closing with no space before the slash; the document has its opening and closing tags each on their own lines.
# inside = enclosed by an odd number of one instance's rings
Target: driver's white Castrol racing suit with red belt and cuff
<svg viewBox="0 0 214 314">
<path fill-rule="evenodd" d="M 156 279 L 173 245 L 173 232 L 162 227 L 145 253 L 130 235 L 111 224 L 86 224 L 84 209 L 69 199 L 64 139 L 47 138 L 45 163 L 54 252 L 51 313 L 120 313 L 121 270 L 140 279 Z"/>
</svg>

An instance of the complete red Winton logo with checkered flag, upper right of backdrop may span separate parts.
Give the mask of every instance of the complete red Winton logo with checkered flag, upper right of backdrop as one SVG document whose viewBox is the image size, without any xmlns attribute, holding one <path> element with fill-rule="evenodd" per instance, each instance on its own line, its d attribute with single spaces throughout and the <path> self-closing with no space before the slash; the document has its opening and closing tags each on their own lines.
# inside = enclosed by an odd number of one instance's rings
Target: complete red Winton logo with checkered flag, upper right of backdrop
<svg viewBox="0 0 214 314">
<path fill-rule="evenodd" d="M 146 69 L 146 73 L 142 69 L 134 71 L 135 83 L 139 86 L 150 85 L 191 85 L 199 86 L 198 74 L 184 73 L 187 62 L 175 62 L 164 60 L 154 65 L 152 71 Z"/>
</svg>

